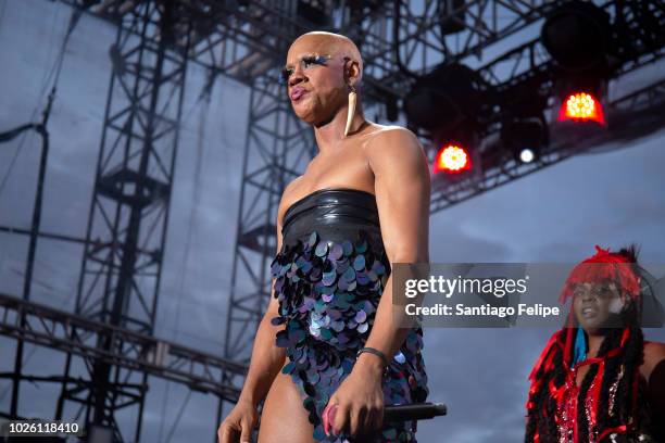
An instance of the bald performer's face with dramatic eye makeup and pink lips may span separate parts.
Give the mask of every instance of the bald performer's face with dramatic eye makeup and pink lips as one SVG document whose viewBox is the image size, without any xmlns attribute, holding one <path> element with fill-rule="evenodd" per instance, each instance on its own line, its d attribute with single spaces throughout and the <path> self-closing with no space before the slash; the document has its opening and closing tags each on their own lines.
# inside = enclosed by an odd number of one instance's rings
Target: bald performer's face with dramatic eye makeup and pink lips
<svg viewBox="0 0 665 443">
<path fill-rule="evenodd" d="M 325 37 L 303 36 L 291 45 L 283 77 L 300 119 L 311 125 L 325 124 L 346 103 L 344 63 Z M 305 92 L 292 97 L 294 88 L 304 88 Z"/>
</svg>

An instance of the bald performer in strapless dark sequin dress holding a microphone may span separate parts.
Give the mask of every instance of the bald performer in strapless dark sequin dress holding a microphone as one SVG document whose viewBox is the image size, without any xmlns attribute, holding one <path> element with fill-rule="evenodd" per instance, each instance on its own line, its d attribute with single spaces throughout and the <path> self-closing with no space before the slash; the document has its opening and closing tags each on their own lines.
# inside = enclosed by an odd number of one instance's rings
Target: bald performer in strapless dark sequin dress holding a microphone
<svg viewBox="0 0 665 443">
<path fill-rule="evenodd" d="M 391 263 L 428 263 L 430 177 L 418 139 L 369 122 L 349 38 L 304 34 L 281 72 L 318 153 L 277 211 L 272 298 L 240 398 L 217 435 L 250 442 L 415 442 L 388 404 L 428 394 L 423 331 L 392 318 Z"/>
</svg>

